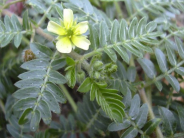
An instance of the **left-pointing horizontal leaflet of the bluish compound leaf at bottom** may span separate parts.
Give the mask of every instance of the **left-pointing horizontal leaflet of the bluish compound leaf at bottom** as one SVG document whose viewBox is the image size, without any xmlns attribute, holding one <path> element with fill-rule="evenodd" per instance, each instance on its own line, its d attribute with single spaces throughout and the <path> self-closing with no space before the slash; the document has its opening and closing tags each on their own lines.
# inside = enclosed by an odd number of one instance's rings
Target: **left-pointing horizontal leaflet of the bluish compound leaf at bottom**
<svg viewBox="0 0 184 138">
<path fill-rule="evenodd" d="M 112 122 L 108 126 L 109 131 L 119 131 L 128 128 L 131 125 L 131 122 L 129 120 L 124 120 L 123 123 L 116 123 Z"/>
</svg>

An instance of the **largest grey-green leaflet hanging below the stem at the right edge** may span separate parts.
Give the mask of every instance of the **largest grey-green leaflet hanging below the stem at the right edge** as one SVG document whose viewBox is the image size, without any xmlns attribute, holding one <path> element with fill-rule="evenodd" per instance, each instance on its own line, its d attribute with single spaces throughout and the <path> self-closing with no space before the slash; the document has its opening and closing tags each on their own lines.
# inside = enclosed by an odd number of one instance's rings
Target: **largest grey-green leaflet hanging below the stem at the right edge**
<svg viewBox="0 0 184 138">
<path fill-rule="evenodd" d="M 177 92 L 180 91 L 180 84 L 174 76 L 167 75 L 165 78 Z"/>
</svg>

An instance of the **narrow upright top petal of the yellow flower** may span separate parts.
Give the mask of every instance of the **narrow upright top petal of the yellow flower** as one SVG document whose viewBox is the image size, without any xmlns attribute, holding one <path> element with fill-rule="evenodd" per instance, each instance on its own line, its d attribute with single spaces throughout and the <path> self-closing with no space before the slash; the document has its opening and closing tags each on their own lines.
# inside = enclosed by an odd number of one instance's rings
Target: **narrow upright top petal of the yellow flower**
<svg viewBox="0 0 184 138">
<path fill-rule="evenodd" d="M 73 11 L 71 9 L 63 10 L 64 25 L 69 29 L 73 25 Z"/>
</svg>

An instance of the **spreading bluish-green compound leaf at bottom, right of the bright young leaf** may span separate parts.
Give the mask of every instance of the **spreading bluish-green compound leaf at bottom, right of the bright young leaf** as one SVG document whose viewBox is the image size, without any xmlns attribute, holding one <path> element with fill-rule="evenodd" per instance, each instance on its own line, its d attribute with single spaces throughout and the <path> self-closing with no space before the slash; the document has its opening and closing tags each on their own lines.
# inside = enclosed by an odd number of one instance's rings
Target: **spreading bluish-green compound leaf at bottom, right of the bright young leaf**
<svg viewBox="0 0 184 138">
<path fill-rule="evenodd" d="M 128 90 L 126 96 L 123 99 L 123 103 L 126 107 L 125 119 L 122 123 L 112 122 L 108 126 L 109 131 L 125 130 L 121 135 L 121 138 L 136 137 L 138 133 L 141 137 L 150 135 L 157 127 L 160 119 L 150 120 L 146 123 L 148 117 L 148 105 L 143 104 L 140 107 L 140 98 L 135 95 L 132 99 L 131 91 Z"/>
</svg>

